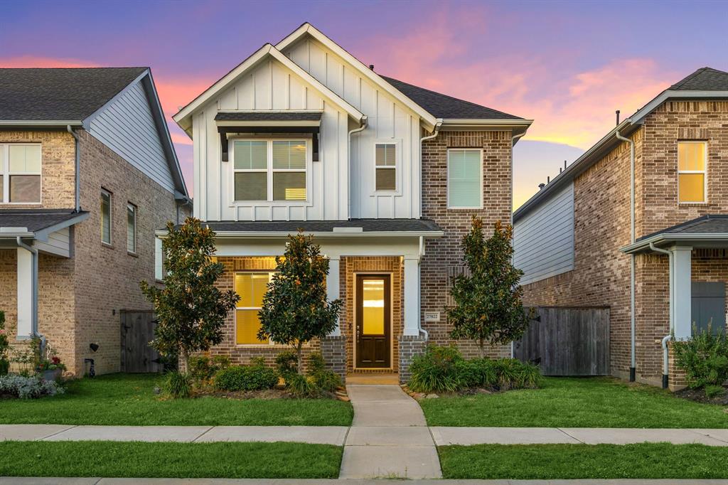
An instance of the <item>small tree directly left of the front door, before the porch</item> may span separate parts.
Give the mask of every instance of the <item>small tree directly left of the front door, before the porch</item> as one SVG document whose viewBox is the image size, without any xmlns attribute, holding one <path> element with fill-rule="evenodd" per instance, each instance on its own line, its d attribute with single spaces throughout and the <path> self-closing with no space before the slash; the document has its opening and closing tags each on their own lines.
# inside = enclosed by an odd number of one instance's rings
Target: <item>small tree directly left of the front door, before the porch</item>
<svg viewBox="0 0 728 485">
<path fill-rule="evenodd" d="M 328 259 L 321 256 L 312 236 L 301 231 L 289 235 L 285 254 L 276 257 L 276 272 L 258 314 L 258 339 L 292 346 L 298 355 L 298 374 L 303 374 L 303 345 L 331 334 L 341 311 L 341 300 L 326 297 L 326 275 Z"/>
</svg>

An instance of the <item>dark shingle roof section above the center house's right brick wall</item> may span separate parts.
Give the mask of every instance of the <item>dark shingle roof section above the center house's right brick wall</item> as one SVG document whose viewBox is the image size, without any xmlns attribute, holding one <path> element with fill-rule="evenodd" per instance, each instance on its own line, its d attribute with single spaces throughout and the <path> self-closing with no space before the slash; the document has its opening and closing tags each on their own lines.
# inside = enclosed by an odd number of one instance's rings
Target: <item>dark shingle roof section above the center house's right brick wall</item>
<svg viewBox="0 0 728 485">
<path fill-rule="evenodd" d="M 523 119 L 521 117 L 507 114 L 503 111 L 486 108 L 479 104 L 470 103 L 452 96 L 443 95 L 440 92 L 430 91 L 424 87 L 414 86 L 406 82 L 392 79 L 391 77 L 381 76 L 382 79 L 392 84 L 403 95 L 407 96 L 415 103 L 422 106 L 436 118 L 450 119 Z"/>
</svg>

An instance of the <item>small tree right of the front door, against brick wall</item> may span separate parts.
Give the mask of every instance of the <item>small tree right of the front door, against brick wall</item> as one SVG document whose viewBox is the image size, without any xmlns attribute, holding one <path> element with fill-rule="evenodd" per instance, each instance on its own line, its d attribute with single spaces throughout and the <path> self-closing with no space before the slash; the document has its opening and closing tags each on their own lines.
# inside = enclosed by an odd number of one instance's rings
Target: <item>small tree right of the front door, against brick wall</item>
<svg viewBox="0 0 728 485">
<path fill-rule="evenodd" d="M 513 228 L 500 221 L 491 237 L 483 236 L 483 221 L 472 218 L 472 228 L 463 237 L 462 248 L 467 272 L 454 278 L 450 294 L 455 301 L 446 310 L 453 325 L 454 339 L 475 341 L 480 357 L 485 345 L 507 344 L 521 338 L 534 319 L 535 310 L 523 308 L 523 276 L 513 266 Z"/>
</svg>

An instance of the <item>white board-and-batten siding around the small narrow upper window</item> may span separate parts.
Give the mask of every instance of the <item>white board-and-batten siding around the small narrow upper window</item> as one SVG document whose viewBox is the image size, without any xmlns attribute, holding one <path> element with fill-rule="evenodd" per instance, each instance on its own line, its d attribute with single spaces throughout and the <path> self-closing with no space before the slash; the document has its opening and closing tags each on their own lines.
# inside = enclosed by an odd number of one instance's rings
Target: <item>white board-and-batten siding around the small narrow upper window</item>
<svg viewBox="0 0 728 485">
<path fill-rule="evenodd" d="M 368 117 L 368 127 L 352 135 L 352 218 L 419 218 L 420 119 L 360 71 L 323 44 L 304 37 L 283 54 Z M 397 190 L 376 192 L 374 146 L 397 143 Z"/>
</svg>

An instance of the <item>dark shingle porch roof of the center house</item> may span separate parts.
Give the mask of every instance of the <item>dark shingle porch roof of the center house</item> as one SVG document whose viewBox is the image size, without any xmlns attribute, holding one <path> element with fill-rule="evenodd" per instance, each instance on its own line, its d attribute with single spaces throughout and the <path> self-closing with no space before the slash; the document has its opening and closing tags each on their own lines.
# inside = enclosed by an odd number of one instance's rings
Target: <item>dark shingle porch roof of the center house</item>
<svg viewBox="0 0 728 485">
<path fill-rule="evenodd" d="M 362 232 L 438 232 L 440 226 L 430 219 L 351 219 L 349 221 L 260 221 L 207 222 L 215 232 L 334 232 L 333 228 L 362 228 Z M 343 232 L 342 234 L 347 234 Z"/>
</svg>

